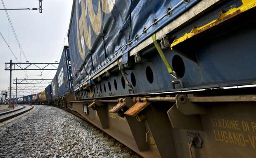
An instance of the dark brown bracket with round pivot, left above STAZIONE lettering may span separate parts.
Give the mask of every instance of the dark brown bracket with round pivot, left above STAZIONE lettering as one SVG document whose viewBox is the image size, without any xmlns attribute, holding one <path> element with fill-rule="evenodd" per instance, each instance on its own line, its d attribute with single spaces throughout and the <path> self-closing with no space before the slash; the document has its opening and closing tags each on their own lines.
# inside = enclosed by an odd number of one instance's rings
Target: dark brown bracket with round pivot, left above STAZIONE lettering
<svg viewBox="0 0 256 158">
<path fill-rule="evenodd" d="M 185 94 L 176 95 L 176 105 L 178 110 L 185 115 L 206 114 L 204 105 L 190 102 Z"/>
</svg>

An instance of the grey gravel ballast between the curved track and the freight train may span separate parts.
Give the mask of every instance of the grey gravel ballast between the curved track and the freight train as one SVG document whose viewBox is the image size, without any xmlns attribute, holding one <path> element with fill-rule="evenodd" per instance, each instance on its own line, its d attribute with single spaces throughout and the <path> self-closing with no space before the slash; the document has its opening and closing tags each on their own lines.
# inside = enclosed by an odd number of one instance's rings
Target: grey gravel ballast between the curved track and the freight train
<svg viewBox="0 0 256 158">
<path fill-rule="evenodd" d="M 30 157 L 140 158 L 95 126 L 46 105 L 0 126 L 0 158 Z"/>
</svg>

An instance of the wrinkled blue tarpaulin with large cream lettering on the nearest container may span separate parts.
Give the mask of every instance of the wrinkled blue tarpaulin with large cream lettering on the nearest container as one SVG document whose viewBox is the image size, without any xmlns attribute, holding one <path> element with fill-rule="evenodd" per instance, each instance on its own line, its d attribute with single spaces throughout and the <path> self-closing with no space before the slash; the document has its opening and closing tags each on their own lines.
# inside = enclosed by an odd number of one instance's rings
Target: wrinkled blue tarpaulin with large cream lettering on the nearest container
<svg viewBox="0 0 256 158">
<path fill-rule="evenodd" d="M 127 62 L 130 49 L 199 1 L 74 0 L 68 37 L 75 87 L 120 57 Z"/>
</svg>

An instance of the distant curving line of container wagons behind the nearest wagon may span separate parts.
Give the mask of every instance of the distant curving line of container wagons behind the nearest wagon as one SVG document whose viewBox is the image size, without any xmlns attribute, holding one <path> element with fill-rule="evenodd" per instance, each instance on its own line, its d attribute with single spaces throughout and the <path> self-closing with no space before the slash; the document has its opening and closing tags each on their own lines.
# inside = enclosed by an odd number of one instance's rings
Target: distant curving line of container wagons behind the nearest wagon
<svg viewBox="0 0 256 158">
<path fill-rule="evenodd" d="M 45 104 L 67 107 L 73 101 L 69 46 L 64 46 L 57 72 L 43 92 L 17 98 L 18 104 Z"/>
</svg>

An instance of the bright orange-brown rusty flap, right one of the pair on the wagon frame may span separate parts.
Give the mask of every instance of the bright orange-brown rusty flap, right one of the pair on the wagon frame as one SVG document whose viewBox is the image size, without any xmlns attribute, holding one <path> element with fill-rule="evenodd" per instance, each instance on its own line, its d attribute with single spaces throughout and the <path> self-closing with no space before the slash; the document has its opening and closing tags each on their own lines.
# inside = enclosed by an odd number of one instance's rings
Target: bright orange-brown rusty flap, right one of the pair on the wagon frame
<svg viewBox="0 0 256 158">
<path fill-rule="evenodd" d="M 124 114 L 128 116 L 135 117 L 137 114 L 139 114 L 142 110 L 147 108 L 148 105 L 151 104 L 151 102 L 147 101 L 147 98 L 143 98 L 143 101 L 140 102 L 140 99 L 136 99 L 135 105 L 133 105 L 130 109 L 128 109 Z"/>
</svg>

